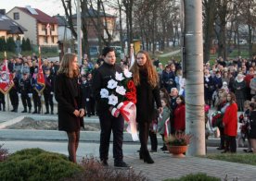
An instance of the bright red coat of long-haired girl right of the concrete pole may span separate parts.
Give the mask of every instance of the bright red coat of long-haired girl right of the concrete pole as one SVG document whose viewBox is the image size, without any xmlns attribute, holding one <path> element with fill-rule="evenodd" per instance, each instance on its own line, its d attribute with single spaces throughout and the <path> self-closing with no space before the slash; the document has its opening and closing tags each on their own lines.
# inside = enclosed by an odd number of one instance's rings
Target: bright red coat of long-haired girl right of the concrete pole
<svg viewBox="0 0 256 181">
<path fill-rule="evenodd" d="M 224 134 L 237 136 L 237 103 L 231 103 L 224 112 Z"/>
</svg>

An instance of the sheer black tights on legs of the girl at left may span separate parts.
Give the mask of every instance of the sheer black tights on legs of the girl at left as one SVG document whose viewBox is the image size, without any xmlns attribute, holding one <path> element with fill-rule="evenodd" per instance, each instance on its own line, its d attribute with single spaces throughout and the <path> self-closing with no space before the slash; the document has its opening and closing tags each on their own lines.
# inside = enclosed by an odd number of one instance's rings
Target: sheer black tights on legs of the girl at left
<svg viewBox="0 0 256 181">
<path fill-rule="evenodd" d="M 68 143 L 68 151 L 69 151 L 69 159 L 71 162 L 76 163 L 76 151 L 79 144 L 80 139 L 80 130 L 74 132 L 67 132 L 69 143 Z"/>
</svg>

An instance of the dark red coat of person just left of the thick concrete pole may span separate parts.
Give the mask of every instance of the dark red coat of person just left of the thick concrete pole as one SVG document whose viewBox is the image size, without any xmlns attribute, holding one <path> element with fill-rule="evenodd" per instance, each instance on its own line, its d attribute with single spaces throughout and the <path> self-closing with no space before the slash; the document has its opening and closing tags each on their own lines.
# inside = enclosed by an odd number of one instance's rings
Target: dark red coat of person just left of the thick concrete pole
<svg viewBox="0 0 256 181">
<path fill-rule="evenodd" d="M 185 130 L 185 104 L 179 104 L 174 111 L 175 130 Z"/>
</svg>

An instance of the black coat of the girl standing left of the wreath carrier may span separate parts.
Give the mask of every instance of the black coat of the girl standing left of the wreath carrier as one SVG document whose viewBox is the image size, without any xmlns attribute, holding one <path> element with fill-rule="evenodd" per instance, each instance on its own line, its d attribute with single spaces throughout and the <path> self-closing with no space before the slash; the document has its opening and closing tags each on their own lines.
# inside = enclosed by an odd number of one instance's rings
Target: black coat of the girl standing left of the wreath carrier
<svg viewBox="0 0 256 181">
<path fill-rule="evenodd" d="M 64 131 L 78 131 L 83 125 L 83 117 L 76 117 L 73 112 L 84 107 L 83 93 L 78 84 L 78 97 L 75 99 L 71 78 L 64 74 L 56 77 L 55 98 L 58 102 L 58 129 Z M 76 101 L 76 103 L 75 103 Z M 76 105 L 77 104 L 77 105 Z"/>
</svg>

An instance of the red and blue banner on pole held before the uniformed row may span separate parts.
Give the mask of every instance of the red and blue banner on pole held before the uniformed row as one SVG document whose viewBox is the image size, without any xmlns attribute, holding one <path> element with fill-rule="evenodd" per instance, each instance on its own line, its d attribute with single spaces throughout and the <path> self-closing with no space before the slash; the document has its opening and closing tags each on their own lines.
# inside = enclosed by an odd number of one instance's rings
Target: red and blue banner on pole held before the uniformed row
<svg viewBox="0 0 256 181">
<path fill-rule="evenodd" d="M 38 73 L 36 75 L 36 85 L 34 89 L 38 93 L 42 93 L 43 90 L 45 90 L 45 76 L 42 68 L 42 63 L 41 63 L 41 48 L 38 48 L 39 52 L 39 57 L 38 57 Z"/>
</svg>

